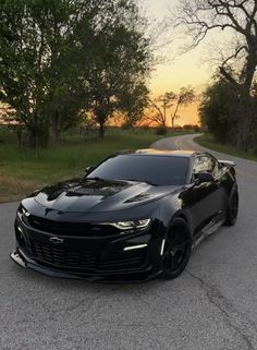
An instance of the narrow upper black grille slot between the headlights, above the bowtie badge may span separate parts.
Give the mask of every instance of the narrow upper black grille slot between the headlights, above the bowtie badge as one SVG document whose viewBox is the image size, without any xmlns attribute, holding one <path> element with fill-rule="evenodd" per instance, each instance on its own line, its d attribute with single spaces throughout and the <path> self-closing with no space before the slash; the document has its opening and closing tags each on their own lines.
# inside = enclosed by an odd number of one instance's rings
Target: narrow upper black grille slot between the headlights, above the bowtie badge
<svg viewBox="0 0 257 350">
<path fill-rule="evenodd" d="M 93 225 L 89 222 L 64 222 L 64 221 L 54 221 L 37 216 L 29 216 L 27 224 L 30 227 L 56 234 L 62 236 L 94 236 L 94 237 L 106 237 L 114 236 L 119 233 L 119 230 L 112 226 L 108 225 Z"/>
</svg>

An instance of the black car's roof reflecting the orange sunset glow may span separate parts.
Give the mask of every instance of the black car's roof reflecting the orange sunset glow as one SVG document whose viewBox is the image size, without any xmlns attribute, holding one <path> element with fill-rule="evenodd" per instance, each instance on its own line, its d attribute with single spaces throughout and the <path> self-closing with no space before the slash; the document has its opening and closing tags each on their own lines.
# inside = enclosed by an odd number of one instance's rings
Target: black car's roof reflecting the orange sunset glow
<svg viewBox="0 0 257 350">
<path fill-rule="evenodd" d="M 144 148 L 144 149 L 125 149 L 118 152 L 120 155 L 145 155 L 145 156 L 175 156 L 175 157 L 192 157 L 203 152 L 196 152 L 192 149 L 157 149 L 157 148 Z"/>
</svg>

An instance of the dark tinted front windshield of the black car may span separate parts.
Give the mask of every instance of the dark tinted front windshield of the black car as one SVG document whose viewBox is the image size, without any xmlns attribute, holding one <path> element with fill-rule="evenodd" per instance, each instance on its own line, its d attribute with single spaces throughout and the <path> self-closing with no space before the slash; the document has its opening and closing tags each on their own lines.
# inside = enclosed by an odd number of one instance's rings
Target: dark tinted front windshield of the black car
<svg viewBox="0 0 257 350">
<path fill-rule="evenodd" d="M 136 180 L 158 185 L 184 184 L 188 158 L 151 155 L 118 155 L 99 165 L 88 178 Z"/>
</svg>

